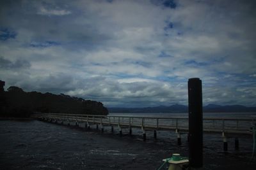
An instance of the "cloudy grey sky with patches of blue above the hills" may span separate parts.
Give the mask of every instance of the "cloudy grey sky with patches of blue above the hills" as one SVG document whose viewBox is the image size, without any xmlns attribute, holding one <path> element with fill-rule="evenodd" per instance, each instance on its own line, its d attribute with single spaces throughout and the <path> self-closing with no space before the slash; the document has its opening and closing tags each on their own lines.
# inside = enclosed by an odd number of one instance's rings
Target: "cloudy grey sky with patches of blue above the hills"
<svg viewBox="0 0 256 170">
<path fill-rule="evenodd" d="M 1 0 L 5 90 L 51 92 L 107 107 L 256 106 L 256 1 Z"/>
</svg>

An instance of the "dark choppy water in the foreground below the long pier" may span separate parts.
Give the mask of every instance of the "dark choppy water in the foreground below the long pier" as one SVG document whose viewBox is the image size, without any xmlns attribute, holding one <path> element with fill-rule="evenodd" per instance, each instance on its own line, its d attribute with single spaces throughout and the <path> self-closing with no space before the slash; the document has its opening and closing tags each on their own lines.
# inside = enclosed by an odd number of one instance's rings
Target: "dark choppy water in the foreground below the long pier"
<svg viewBox="0 0 256 170">
<path fill-rule="evenodd" d="M 83 124 L 81 124 L 83 126 Z M 177 146 L 174 132 L 159 131 L 158 140 L 140 129 L 128 131 L 120 138 L 118 131 L 104 134 L 31 121 L 0 121 L 0 169 L 157 169 L 171 153 L 188 156 L 186 135 Z M 222 152 L 221 134 L 204 134 L 204 169 L 255 169 L 251 136 L 239 136 L 240 150 L 234 150 L 234 136 L 229 136 L 228 153 Z"/>
</svg>

